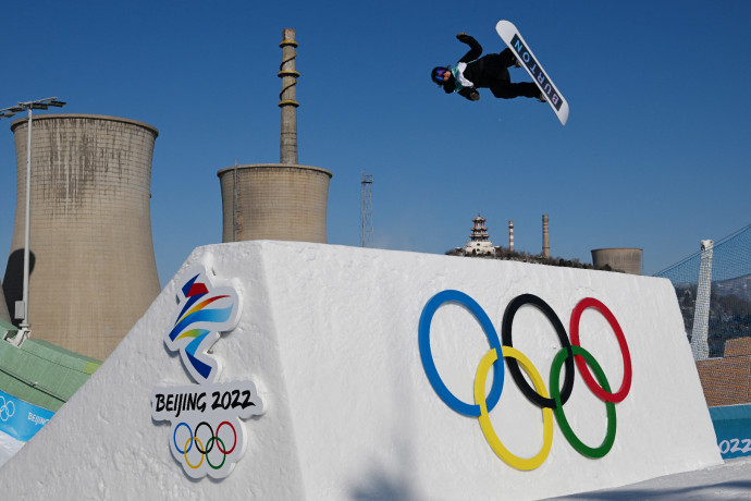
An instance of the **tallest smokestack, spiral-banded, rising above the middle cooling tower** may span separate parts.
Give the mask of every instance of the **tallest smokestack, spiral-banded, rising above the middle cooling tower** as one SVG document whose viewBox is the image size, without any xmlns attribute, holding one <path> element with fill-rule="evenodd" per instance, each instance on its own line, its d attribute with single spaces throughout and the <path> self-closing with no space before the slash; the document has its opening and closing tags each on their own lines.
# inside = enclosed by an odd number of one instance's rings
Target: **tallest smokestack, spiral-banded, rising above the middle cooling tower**
<svg viewBox="0 0 751 501">
<path fill-rule="evenodd" d="M 280 162 L 294 166 L 297 163 L 297 77 L 300 75 L 295 71 L 295 30 L 284 29 L 282 41 L 282 64 L 280 65 L 279 76 L 282 78 L 282 91 L 279 94 L 279 107 L 282 109 L 282 144 L 280 150 Z"/>
</svg>

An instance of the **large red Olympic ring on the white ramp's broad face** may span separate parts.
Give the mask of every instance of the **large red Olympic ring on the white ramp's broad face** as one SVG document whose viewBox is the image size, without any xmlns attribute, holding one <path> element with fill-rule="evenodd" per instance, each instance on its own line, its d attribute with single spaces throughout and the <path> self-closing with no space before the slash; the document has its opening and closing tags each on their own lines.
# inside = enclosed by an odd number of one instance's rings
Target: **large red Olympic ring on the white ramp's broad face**
<svg viewBox="0 0 751 501">
<path fill-rule="evenodd" d="M 594 297 L 584 297 L 576 305 L 574 311 L 571 311 L 570 337 L 573 345 L 580 346 L 579 320 L 581 318 L 581 314 L 584 313 L 584 309 L 587 308 L 594 308 L 600 311 L 600 314 L 605 317 L 605 320 L 607 320 L 607 323 L 610 323 L 611 329 L 613 329 L 613 332 L 615 332 L 615 337 L 618 340 L 620 354 L 624 359 L 624 381 L 620 384 L 620 389 L 618 389 L 618 391 L 615 393 L 603 390 L 603 388 L 592 377 L 592 374 L 590 372 L 589 367 L 587 367 L 587 363 L 581 355 L 575 355 L 574 358 L 576 359 L 576 365 L 579 369 L 579 374 L 581 374 L 581 377 L 584 379 L 584 382 L 589 389 L 592 390 L 592 393 L 598 395 L 600 400 L 613 403 L 621 402 L 631 389 L 631 354 L 628 351 L 626 337 L 624 335 L 624 331 L 620 329 L 618 320 L 615 319 L 615 316 L 607 308 L 607 306 Z"/>
</svg>

